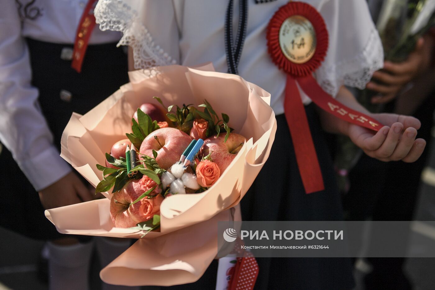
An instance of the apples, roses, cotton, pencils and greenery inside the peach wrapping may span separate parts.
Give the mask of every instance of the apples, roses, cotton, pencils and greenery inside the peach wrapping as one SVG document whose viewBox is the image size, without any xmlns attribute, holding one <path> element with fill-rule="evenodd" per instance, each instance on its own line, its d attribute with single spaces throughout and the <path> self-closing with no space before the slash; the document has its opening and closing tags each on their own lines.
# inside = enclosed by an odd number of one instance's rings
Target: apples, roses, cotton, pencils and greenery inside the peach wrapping
<svg viewBox="0 0 435 290">
<path fill-rule="evenodd" d="M 159 97 L 154 99 L 167 110 L 166 116 L 156 105 L 142 104 L 132 116 L 128 138 L 105 154 L 107 167 L 96 165 L 103 179 L 95 193 L 112 189 L 114 225 L 146 233 L 160 227 L 164 198 L 205 192 L 245 142 L 228 126 L 229 116 L 217 115 L 207 100 L 199 106 L 166 107 Z"/>
</svg>

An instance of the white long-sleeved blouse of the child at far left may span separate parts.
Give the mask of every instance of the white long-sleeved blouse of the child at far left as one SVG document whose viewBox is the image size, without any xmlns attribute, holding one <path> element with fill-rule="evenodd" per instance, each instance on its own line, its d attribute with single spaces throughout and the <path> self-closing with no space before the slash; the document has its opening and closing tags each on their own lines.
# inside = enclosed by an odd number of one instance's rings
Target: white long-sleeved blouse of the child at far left
<svg viewBox="0 0 435 290">
<path fill-rule="evenodd" d="M 4 0 L 0 9 L 0 141 L 36 190 L 71 171 L 59 156 L 31 85 L 24 37 L 73 44 L 87 0 Z M 95 27 L 90 44 L 120 40 L 120 32 Z M 59 55 L 60 59 L 60 55 Z"/>
</svg>

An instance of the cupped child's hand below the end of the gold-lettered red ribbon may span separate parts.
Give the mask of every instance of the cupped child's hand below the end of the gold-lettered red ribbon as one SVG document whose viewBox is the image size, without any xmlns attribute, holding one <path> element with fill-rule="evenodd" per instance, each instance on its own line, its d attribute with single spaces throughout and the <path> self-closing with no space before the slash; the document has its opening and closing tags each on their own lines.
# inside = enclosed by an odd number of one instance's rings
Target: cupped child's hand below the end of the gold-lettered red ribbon
<svg viewBox="0 0 435 290">
<path fill-rule="evenodd" d="M 378 132 L 350 124 L 348 136 L 365 154 L 381 161 L 414 162 L 426 146 L 422 138 L 415 139 L 420 121 L 396 114 L 372 114 L 385 126 Z"/>
</svg>

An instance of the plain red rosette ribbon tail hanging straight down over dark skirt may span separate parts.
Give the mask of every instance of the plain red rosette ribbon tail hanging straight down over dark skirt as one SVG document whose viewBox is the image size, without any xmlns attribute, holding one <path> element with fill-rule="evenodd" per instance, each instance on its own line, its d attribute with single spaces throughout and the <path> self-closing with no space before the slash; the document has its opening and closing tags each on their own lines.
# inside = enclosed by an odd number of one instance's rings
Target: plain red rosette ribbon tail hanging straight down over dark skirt
<svg viewBox="0 0 435 290">
<path fill-rule="evenodd" d="M 304 104 L 296 80 L 290 75 L 287 76 L 285 87 L 284 112 L 305 192 L 308 194 L 324 190 L 325 185 Z"/>
</svg>

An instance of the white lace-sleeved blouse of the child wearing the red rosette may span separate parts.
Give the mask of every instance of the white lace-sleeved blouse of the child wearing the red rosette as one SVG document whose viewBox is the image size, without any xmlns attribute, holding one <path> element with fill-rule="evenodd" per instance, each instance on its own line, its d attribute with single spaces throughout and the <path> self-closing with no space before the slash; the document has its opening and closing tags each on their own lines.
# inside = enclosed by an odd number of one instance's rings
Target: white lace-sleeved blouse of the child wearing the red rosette
<svg viewBox="0 0 435 290">
<path fill-rule="evenodd" d="M 364 88 L 382 67 L 383 50 L 365 0 L 305 0 L 325 19 L 329 48 L 315 72 L 321 87 L 335 96 L 341 85 Z M 239 74 L 271 93 L 275 114 L 284 113 L 286 75 L 267 51 L 266 27 L 288 0 L 255 4 L 248 0 L 248 27 Z M 101 30 L 124 33 L 119 45 L 134 50 L 136 68 L 197 65 L 213 62 L 227 72 L 224 18 L 228 0 L 100 0 L 95 9 Z M 237 32 L 238 0 L 234 1 L 233 32 Z M 311 100 L 301 91 L 304 104 Z"/>
</svg>

